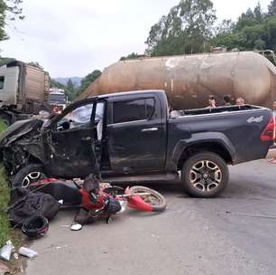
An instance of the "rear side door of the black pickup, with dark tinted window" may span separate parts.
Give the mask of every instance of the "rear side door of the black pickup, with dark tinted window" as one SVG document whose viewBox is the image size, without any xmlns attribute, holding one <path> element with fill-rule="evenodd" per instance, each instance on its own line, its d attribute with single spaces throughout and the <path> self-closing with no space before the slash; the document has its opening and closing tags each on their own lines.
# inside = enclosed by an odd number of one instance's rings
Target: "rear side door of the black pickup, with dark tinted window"
<svg viewBox="0 0 276 275">
<path fill-rule="evenodd" d="M 158 97 L 109 103 L 107 125 L 111 170 L 134 173 L 161 170 L 165 163 L 166 123 Z M 109 116 L 110 118 L 110 116 Z"/>
</svg>

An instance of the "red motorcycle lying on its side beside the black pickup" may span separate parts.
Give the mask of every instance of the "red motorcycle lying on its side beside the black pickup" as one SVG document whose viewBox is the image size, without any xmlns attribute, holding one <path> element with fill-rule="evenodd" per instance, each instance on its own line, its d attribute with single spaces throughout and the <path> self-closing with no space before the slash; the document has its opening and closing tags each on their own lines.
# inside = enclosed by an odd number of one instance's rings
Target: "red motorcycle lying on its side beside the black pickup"
<svg viewBox="0 0 276 275">
<path fill-rule="evenodd" d="M 166 209 L 166 200 L 159 192 L 145 186 L 100 187 L 97 193 L 87 192 L 83 185 L 76 182 L 64 182 L 54 178 L 42 179 L 32 183 L 32 190 L 51 194 L 56 200 L 62 200 L 63 205 L 79 206 L 80 210 L 75 222 L 89 223 L 98 217 L 105 217 L 110 223 L 116 213 L 123 213 L 126 206 L 143 212 L 162 212 Z M 78 230 L 76 226 L 76 229 Z"/>
</svg>

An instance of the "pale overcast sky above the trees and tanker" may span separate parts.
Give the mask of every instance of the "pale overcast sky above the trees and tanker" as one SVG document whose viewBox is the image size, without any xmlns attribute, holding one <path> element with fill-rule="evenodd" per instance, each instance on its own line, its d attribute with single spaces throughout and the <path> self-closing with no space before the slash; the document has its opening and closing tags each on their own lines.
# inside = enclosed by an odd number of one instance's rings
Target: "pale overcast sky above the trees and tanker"
<svg viewBox="0 0 276 275">
<path fill-rule="evenodd" d="M 23 0 L 23 21 L 6 28 L 1 56 L 39 62 L 51 77 L 83 77 L 131 52 L 143 53 L 152 24 L 179 0 Z M 213 0 L 219 20 L 257 0 Z M 266 10 L 271 0 L 260 0 Z"/>
</svg>

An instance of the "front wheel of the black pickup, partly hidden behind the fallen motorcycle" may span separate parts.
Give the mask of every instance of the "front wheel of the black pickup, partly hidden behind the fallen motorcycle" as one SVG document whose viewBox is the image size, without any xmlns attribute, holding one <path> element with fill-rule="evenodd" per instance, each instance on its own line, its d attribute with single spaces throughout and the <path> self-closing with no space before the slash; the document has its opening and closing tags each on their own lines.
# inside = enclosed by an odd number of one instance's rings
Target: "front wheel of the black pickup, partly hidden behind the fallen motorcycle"
<svg viewBox="0 0 276 275">
<path fill-rule="evenodd" d="M 43 166 L 41 165 L 29 165 L 23 167 L 15 175 L 12 181 L 13 188 L 15 187 L 24 187 L 28 188 L 32 183 L 41 180 L 46 177 Z"/>
</svg>

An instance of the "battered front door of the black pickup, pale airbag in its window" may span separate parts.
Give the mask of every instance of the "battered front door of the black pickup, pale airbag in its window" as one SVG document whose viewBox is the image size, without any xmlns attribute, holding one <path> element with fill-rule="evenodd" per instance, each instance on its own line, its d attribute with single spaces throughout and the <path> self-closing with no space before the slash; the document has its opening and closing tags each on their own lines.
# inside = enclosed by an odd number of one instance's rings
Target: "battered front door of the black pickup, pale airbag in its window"
<svg viewBox="0 0 276 275">
<path fill-rule="evenodd" d="M 50 175 L 65 178 L 95 173 L 95 127 L 92 121 L 96 102 L 77 106 L 51 125 L 48 132 Z"/>
</svg>

